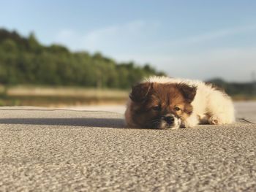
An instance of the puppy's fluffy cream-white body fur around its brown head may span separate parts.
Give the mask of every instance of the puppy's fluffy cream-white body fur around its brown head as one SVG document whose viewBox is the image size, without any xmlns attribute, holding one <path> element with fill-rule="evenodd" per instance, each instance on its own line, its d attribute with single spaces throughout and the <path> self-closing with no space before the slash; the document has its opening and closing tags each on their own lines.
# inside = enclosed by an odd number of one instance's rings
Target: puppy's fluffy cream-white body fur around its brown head
<svg viewBox="0 0 256 192">
<path fill-rule="evenodd" d="M 235 111 L 230 97 L 212 88 L 211 85 L 206 85 L 205 82 L 170 77 L 149 77 L 143 82 L 186 83 L 197 87 L 195 99 L 192 101 L 192 115 L 183 122 L 186 127 L 194 127 L 200 123 L 227 124 L 235 121 Z M 130 105 L 129 99 L 125 118 L 129 126 L 135 126 L 131 119 Z"/>
</svg>

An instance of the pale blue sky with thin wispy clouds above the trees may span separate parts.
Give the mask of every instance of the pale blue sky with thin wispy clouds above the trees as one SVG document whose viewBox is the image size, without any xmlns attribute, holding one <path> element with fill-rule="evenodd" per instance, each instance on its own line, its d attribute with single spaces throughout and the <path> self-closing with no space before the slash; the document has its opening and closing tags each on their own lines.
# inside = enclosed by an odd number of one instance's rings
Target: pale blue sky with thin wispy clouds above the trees
<svg viewBox="0 0 256 192">
<path fill-rule="evenodd" d="M 0 28 L 44 45 L 149 63 L 171 77 L 256 78 L 253 0 L 0 0 Z"/>
</svg>

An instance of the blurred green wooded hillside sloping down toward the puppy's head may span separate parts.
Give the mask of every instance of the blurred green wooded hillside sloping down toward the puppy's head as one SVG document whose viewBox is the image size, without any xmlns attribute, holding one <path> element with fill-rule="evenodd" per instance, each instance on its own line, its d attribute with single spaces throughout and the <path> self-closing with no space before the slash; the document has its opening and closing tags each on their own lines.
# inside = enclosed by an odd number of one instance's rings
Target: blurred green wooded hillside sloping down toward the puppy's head
<svg viewBox="0 0 256 192">
<path fill-rule="evenodd" d="M 45 46 L 33 33 L 22 37 L 0 28 L 0 84 L 129 88 L 143 77 L 164 75 L 149 64 L 118 63 L 101 53 Z"/>
</svg>

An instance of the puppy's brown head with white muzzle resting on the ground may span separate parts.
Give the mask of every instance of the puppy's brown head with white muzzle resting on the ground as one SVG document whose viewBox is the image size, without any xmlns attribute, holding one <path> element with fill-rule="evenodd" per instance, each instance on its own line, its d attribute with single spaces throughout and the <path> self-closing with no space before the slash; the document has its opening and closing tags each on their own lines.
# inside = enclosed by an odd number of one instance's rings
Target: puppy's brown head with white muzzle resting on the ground
<svg viewBox="0 0 256 192">
<path fill-rule="evenodd" d="M 196 91 L 184 83 L 142 82 L 129 94 L 129 118 L 140 128 L 179 128 L 192 113 Z"/>
</svg>

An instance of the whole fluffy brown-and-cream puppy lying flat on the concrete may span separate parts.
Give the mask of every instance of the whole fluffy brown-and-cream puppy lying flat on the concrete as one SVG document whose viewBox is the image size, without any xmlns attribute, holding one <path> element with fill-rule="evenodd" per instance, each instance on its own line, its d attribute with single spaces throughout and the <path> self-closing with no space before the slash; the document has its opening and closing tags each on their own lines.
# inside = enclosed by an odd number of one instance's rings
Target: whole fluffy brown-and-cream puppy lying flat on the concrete
<svg viewBox="0 0 256 192">
<path fill-rule="evenodd" d="M 132 87 L 125 120 L 129 127 L 186 128 L 235 120 L 233 102 L 199 80 L 149 77 Z"/>
</svg>

